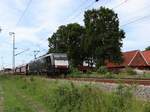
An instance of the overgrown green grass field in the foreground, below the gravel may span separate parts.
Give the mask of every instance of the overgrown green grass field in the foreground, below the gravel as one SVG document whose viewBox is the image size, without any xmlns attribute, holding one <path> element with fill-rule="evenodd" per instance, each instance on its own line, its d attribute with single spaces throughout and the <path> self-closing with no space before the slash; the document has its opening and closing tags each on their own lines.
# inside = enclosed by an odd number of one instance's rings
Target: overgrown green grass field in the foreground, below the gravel
<svg viewBox="0 0 150 112">
<path fill-rule="evenodd" d="M 150 112 L 150 104 L 122 86 L 107 93 L 91 84 L 1 75 L 0 112 Z"/>
</svg>

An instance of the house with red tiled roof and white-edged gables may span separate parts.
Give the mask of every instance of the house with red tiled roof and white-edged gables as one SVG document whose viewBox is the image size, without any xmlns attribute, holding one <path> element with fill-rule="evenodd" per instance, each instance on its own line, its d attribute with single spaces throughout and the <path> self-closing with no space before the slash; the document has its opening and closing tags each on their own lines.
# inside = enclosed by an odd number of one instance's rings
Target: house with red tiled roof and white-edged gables
<svg viewBox="0 0 150 112">
<path fill-rule="evenodd" d="M 122 53 L 123 62 L 115 64 L 112 62 L 107 63 L 108 69 L 122 69 L 125 67 L 148 69 L 150 70 L 150 50 L 149 51 L 129 51 Z"/>
</svg>

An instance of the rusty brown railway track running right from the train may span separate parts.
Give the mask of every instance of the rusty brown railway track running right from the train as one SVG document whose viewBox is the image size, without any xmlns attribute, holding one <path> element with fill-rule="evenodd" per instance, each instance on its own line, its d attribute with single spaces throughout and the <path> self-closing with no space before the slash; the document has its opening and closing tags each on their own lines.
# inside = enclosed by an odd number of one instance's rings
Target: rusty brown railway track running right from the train
<svg viewBox="0 0 150 112">
<path fill-rule="evenodd" d="M 73 81 L 88 81 L 88 82 L 103 82 L 103 83 L 125 83 L 150 86 L 150 79 L 138 78 L 121 78 L 121 79 L 106 79 L 106 78 L 65 78 L 65 80 Z"/>
</svg>

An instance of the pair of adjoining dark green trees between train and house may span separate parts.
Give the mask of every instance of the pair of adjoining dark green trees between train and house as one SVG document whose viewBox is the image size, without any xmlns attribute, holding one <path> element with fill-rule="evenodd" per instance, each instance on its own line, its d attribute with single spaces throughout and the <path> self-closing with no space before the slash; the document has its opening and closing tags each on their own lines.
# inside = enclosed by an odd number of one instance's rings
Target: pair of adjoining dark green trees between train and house
<svg viewBox="0 0 150 112">
<path fill-rule="evenodd" d="M 82 64 L 83 60 L 94 61 L 97 67 L 105 65 L 106 61 L 121 62 L 125 33 L 119 28 L 118 15 L 104 7 L 88 10 L 84 14 L 84 24 L 60 26 L 49 38 L 49 52 L 66 52 L 74 66 Z"/>
</svg>

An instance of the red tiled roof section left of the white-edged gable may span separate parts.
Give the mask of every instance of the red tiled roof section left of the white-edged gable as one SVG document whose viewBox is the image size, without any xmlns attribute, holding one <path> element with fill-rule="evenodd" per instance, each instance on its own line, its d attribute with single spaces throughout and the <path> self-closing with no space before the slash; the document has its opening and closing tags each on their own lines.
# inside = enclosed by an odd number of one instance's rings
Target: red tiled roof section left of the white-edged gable
<svg viewBox="0 0 150 112">
<path fill-rule="evenodd" d="M 136 56 L 137 52 L 140 52 L 138 50 L 135 51 L 128 51 L 122 53 L 123 63 L 121 64 L 114 64 L 114 63 L 108 63 L 107 67 L 125 67 L 130 64 L 132 59 Z"/>
</svg>

